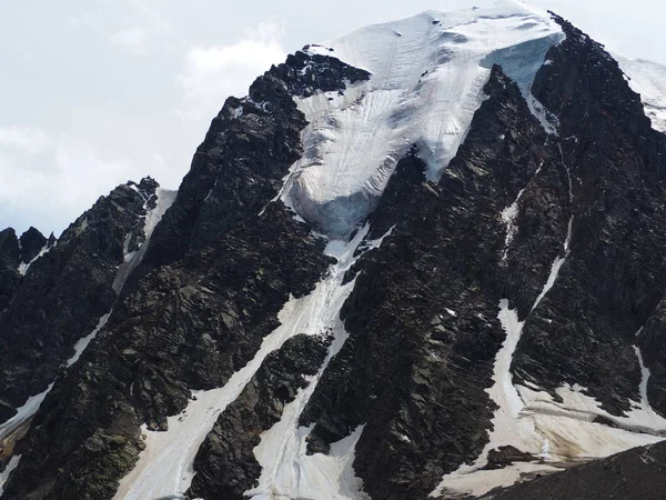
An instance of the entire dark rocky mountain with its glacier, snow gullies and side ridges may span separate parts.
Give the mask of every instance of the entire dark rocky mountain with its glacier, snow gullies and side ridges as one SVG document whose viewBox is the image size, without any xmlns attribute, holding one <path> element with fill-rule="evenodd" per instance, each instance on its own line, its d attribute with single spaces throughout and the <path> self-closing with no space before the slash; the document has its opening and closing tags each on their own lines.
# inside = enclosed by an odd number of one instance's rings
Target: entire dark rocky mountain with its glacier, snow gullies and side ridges
<svg viewBox="0 0 666 500">
<path fill-rule="evenodd" d="M 178 193 L 1 232 L 2 499 L 660 498 L 660 74 L 427 11 L 229 98 Z"/>
</svg>

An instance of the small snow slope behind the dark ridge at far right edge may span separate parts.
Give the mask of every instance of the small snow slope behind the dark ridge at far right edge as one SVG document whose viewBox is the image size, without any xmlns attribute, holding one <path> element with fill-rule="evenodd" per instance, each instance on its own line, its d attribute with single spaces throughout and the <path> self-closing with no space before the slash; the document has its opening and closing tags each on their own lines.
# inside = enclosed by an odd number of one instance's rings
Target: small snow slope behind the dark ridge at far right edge
<svg viewBox="0 0 666 500">
<path fill-rule="evenodd" d="M 613 57 L 629 77 L 629 87 L 640 94 L 653 128 L 666 133 L 666 66 L 616 53 Z"/>
</svg>

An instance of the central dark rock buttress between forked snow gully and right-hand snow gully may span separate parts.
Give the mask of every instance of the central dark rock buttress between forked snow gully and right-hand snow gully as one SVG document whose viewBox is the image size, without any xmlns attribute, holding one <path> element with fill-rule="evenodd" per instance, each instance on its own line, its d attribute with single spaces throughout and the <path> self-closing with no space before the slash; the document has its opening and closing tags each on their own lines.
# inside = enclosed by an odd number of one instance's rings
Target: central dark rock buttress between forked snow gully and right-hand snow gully
<svg viewBox="0 0 666 500">
<path fill-rule="evenodd" d="M 354 468 L 372 498 L 425 498 L 478 456 L 494 410 L 485 389 L 504 339 L 497 304 L 515 297 L 528 311 L 522 304 L 536 299 L 566 236 L 566 171 L 555 144 L 498 67 L 485 92 L 438 184 L 424 182 L 416 158 L 398 163 L 371 237 L 395 228 L 353 270 L 343 308 L 350 338 L 301 417 L 315 423 L 312 442 L 365 423 Z M 522 189 L 533 193 L 522 198 L 525 210 L 545 199 L 551 213 L 518 231 L 516 246 L 531 252 L 503 262 L 500 213 Z"/>
</svg>

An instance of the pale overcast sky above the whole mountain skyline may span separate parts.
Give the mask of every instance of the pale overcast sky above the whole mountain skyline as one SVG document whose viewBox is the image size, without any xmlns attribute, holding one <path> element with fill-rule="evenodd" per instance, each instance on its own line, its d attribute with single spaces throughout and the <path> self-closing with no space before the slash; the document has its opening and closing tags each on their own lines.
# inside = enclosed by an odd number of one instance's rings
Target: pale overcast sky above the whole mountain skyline
<svg viewBox="0 0 666 500">
<path fill-rule="evenodd" d="M 0 0 L 0 229 L 58 236 L 150 174 L 178 188 L 224 98 L 352 29 L 492 0 Z M 663 0 L 534 0 L 666 63 Z"/>
</svg>

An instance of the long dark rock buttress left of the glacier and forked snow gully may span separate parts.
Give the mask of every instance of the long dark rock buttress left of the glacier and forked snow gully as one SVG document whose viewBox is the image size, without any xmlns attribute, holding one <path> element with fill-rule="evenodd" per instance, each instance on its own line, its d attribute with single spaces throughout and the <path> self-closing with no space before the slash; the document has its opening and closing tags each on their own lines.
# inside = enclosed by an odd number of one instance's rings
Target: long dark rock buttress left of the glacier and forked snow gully
<svg viewBox="0 0 666 500">
<path fill-rule="evenodd" d="M 287 61 L 249 99 L 228 99 L 108 326 L 36 416 L 4 498 L 111 498 L 143 446 L 140 424 L 164 430 L 191 390 L 223 386 L 290 294 L 322 277 L 323 241 L 271 201 L 302 154 L 306 122 L 292 96 L 302 79 L 344 89 L 343 78 L 367 73 L 333 58 L 304 64 Z"/>
</svg>

